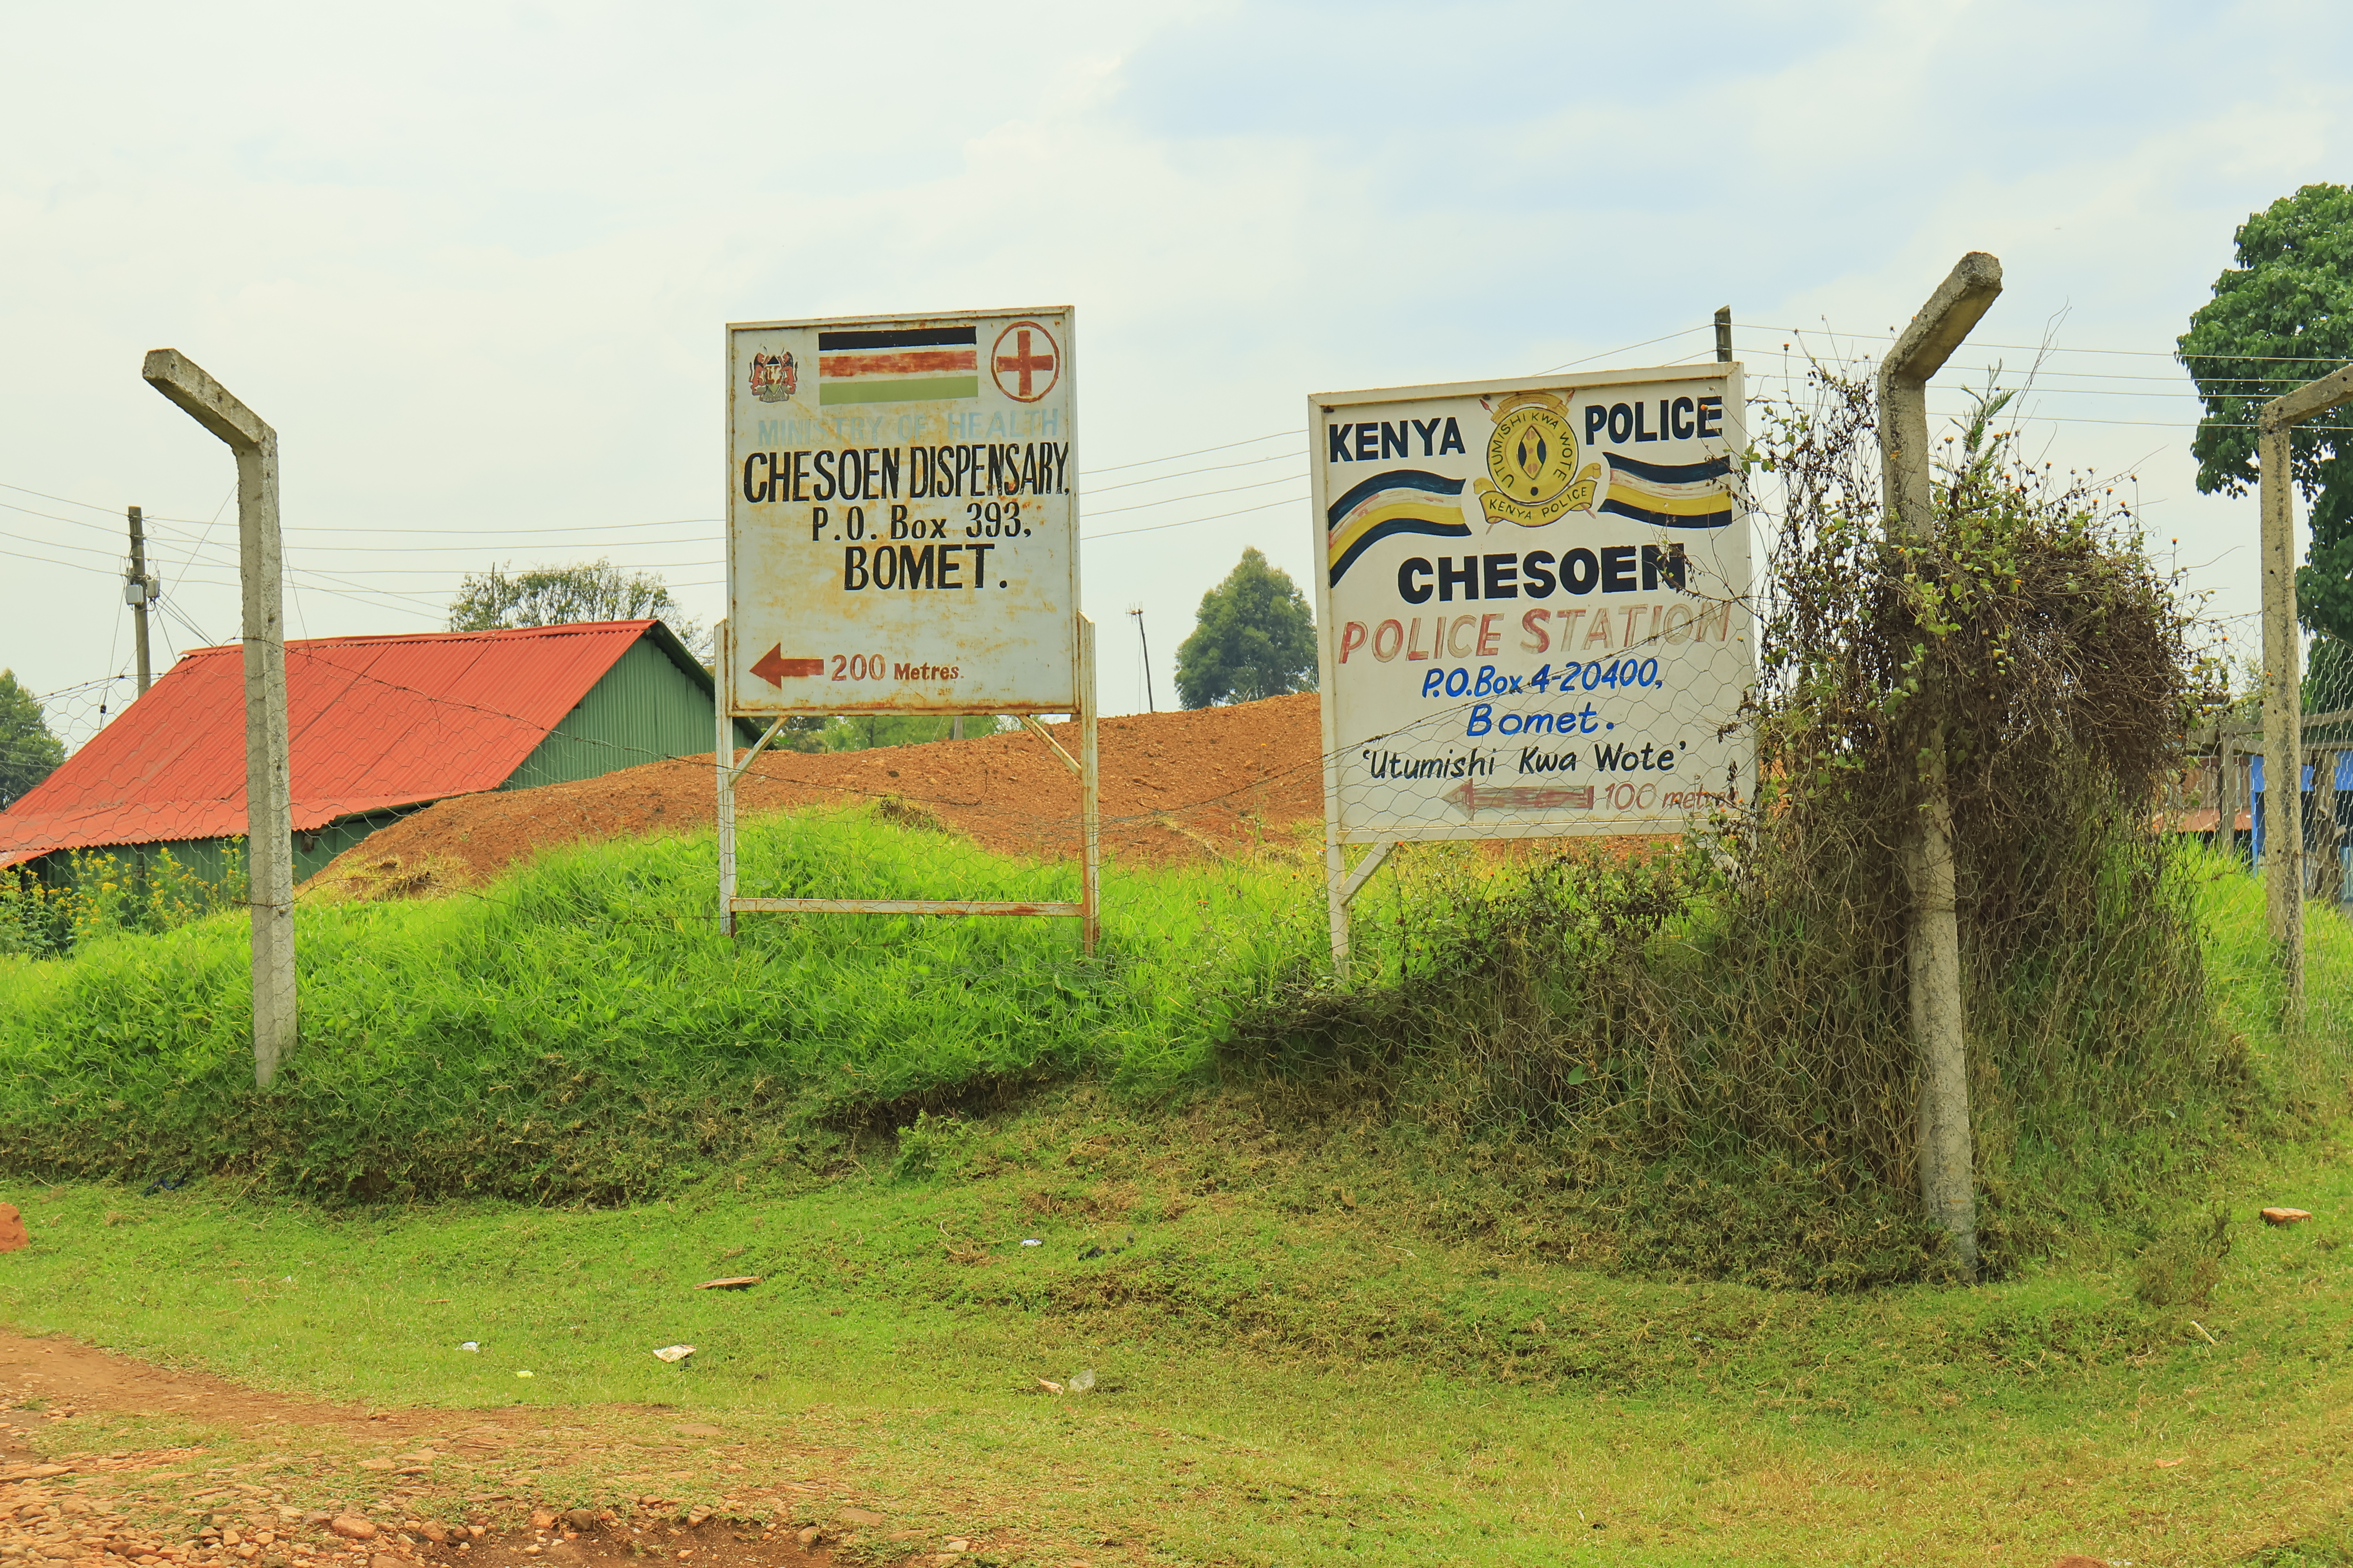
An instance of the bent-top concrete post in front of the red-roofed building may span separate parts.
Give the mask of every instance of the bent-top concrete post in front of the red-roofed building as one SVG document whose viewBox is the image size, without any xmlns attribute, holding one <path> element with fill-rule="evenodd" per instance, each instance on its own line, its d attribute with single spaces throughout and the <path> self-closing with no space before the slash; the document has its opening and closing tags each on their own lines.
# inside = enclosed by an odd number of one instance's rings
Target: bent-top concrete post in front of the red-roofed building
<svg viewBox="0 0 2353 1568">
<path fill-rule="evenodd" d="M 238 458 L 245 599 L 245 875 L 254 914 L 254 1084 L 294 1048 L 294 795 L 287 769 L 287 632 L 280 611 L 278 433 L 176 348 L 139 376 Z"/>
</svg>

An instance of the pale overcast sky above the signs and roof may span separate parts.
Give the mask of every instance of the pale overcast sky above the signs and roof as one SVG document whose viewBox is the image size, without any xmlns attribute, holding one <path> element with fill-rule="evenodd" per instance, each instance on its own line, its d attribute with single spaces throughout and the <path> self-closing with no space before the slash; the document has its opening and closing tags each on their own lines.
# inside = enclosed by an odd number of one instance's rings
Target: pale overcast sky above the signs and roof
<svg viewBox="0 0 2353 1568">
<path fill-rule="evenodd" d="M 1777 393 L 1967 249 L 1955 367 L 2049 334 L 2038 449 L 2245 616 L 2167 350 L 2252 209 L 2353 179 L 2348 78 L 2325 2 L 12 5 L 0 665 L 129 670 L 127 503 L 169 649 L 238 632 L 231 458 L 148 348 L 275 423 L 294 635 L 595 555 L 708 621 L 725 322 L 1071 303 L 1104 708 L 1139 604 L 1172 705 L 1245 545 L 1306 585 L 1306 393 L 1706 357 L 1720 303 Z"/>
</svg>

